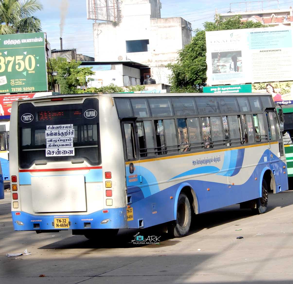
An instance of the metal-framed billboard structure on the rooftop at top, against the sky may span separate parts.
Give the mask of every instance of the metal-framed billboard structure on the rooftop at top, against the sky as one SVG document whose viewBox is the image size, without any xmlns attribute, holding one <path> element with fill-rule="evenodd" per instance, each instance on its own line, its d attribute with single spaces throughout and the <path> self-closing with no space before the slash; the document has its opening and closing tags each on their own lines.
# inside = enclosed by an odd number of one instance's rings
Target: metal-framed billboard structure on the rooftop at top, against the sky
<svg viewBox="0 0 293 284">
<path fill-rule="evenodd" d="M 87 0 L 86 13 L 88 20 L 121 21 L 120 0 Z"/>
</svg>

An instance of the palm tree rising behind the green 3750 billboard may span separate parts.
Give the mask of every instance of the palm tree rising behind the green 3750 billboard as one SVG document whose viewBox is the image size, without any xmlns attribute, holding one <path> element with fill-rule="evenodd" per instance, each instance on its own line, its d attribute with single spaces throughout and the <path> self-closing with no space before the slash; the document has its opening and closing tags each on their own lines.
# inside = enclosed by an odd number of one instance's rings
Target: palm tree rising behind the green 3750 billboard
<svg viewBox="0 0 293 284">
<path fill-rule="evenodd" d="M 42 8 L 38 0 L 0 0 L 0 34 L 42 31 L 40 19 L 33 16 Z"/>
</svg>

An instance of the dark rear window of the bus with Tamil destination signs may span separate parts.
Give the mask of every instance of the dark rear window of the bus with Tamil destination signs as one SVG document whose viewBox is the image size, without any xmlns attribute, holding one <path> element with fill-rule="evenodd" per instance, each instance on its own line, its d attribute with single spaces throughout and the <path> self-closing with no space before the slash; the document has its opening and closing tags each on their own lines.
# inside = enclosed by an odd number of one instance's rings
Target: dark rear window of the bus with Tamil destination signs
<svg viewBox="0 0 293 284">
<path fill-rule="evenodd" d="M 98 99 L 45 107 L 24 103 L 18 114 L 21 168 L 53 161 L 101 163 Z"/>
</svg>

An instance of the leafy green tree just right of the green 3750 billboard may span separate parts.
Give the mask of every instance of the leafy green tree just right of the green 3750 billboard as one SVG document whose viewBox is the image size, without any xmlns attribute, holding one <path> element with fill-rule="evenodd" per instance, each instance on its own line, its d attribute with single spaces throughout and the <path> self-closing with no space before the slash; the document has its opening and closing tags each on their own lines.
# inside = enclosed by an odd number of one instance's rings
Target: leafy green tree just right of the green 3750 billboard
<svg viewBox="0 0 293 284">
<path fill-rule="evenodd" d="M 71 60 L 68 62 L 66 58 L 58 57 L 57 59 L 52 58 L 50 62 L 52 70 L 58 72 L 57 76 L 52 77 L 52 84 L 60 85 L 61 94 L 78 92 L 77 86 L 86 86 L 86 76 L 95 74 L 91 70 L 92 67 L 79 68 L 81 61 L 76 62 L 75 60 Z M 49 84 L 51 84 L 51 78 L 49 78 Z"/>
</svg>

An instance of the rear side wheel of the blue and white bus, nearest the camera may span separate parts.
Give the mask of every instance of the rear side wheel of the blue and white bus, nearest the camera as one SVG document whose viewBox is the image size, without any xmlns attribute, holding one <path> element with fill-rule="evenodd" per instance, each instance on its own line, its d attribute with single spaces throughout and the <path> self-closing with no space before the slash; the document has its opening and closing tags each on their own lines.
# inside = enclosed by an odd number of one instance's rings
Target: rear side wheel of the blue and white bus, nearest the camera
<svg viewBox="0 0 293 284">
<path fill-rule="evenodd" d="M 168 224 L 168 234 L 170 237 L 180 238 L 185 236 L 191 223 L 190 203 L 185 193 L 180 193 L 177 202 L 177 218 Z"/>
</svg>

